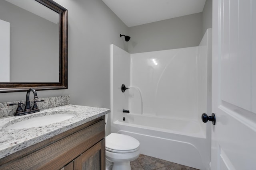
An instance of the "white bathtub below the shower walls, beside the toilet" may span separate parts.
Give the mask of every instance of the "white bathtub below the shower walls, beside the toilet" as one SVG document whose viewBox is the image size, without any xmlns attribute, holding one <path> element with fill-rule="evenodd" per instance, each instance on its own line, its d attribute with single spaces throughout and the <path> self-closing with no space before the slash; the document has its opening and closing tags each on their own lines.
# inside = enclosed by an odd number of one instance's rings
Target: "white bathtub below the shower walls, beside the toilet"
<svg viewBox="0 0 256 170">
<path fill-rule="evenodd" d="M 126 114 L 111 131 L 140 142 L 140 153 L 200 170 L 208 169 L 206 131 L 198 121 Z M 207 154 L 208 152 L 208 154 Z"/>
</svg>

